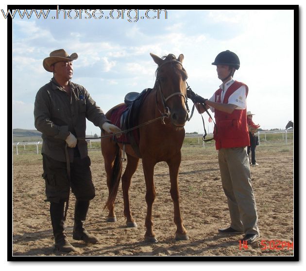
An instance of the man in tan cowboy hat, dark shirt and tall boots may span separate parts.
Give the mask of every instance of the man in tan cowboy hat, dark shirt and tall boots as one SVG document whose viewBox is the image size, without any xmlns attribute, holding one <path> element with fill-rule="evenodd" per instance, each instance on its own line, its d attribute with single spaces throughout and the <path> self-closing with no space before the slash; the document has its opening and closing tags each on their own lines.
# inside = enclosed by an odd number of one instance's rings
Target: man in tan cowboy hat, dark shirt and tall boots
<svg viewBox="0 0 306 271">
<path fill-rule="evenodd" d="M 86 118 L 103 132 L 120 132 L 86 89 L 71 82 L 72 61 L 77 58 L 76 53 L 68 55 L 64 49 L 59 49 L 44 59 L 43 67 L 53 73 L 53 78 L 38 90 L 34 104 L 35 128 L 42 132 L 43 138 L 42 176 L 46 183 L 46 201 L 50 202 L 55 248 L 62 252 L 75 251 L 64 228 L 70 187 L 76 197 L 72 238 L 86 243 L 98 242 L 83 225 L 89 202 L 95 197 L 85 141 Z"/>
</svg>

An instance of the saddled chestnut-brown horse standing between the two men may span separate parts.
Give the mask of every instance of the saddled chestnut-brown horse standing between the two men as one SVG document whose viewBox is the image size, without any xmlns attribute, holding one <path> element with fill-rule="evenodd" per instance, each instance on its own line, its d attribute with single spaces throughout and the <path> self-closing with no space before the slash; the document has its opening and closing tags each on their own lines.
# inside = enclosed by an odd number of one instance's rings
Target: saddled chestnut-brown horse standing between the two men
<svg viewBox="0 0 306 271">
<path fill-rule="evenodd" d="M 155 121 L 139 128 L 139 152 L 136 155 L 131 145 L 125 145 L 127 165 L 122 175 L 122 191 L 124 201 L 124 216 L 128 227 L 136 227 L 132 217 L 129 199 L 129 187 L 132 175 L 136 172 L 138 161 L 142 159 L 143 172 L 146 183 L 146 242 L 157 242 L 153 231 L 152 205 L 155 199 L 155 187 L 153 180 L 154 166 L 156 163 L 166 161 L 170 173 L 170 194 L 174 205 L 174 223 L 176 224 L 176 240 L 188 240 L 187 231 L 183 226 L 183 220 L 179 203 L 178 172 L 181 163 L 181 147 L 185 137 L 185 123 L 188 118 L 186 110 L 187 73 L 182 62 L 184 55 L 178 59 L 172 54 L 159 58 L 150 53 L 154 62 L 158 65 L 154 88 L 145 97 L 138 114 L 138 124 L 144 124 L 161 116 L 161 112 L 168 113 L 168 118 Z M 122 104 L 121 104 L 122 105 Z M 106 113 L 109 119 L 111 113 L 120 105 L 115 106 Z M 106 133 L 105 133 L 106 134 Z M 103 134 L 104 135 L 104 134 Z M 114 202 L 117 195 L 120 176 L 122 172 L 122 143 L 116 143 L 113 138 L 107 137 L 101 140 L 102 155 L 107 175 L 109 190 L 105 207 L 109 209 L 108 222 L 116 222 Z M 104 208 L 105 208 L 104 207 Z"/>
</svg>

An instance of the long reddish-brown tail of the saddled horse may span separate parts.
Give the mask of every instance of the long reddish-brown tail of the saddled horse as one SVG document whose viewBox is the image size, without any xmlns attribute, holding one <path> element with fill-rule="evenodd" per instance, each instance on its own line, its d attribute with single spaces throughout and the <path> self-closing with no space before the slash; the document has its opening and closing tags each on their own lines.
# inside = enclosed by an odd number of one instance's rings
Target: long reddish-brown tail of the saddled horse
<svg viewBox="0 0 306 271">
<path fill-rule="evenodd" d="M 110 188 L 109 188 L 108 199 L 107 199 L 107 202 L 105 203 L 103 209 L 105 209 L 106 207 L 111 208 L 113 206 L 113 204 L 115 203 L 118 188 L 119 188 L 121 173 L 122 173 L 121 155 L 122 155 L 122 151 L 119 148 L 119 146 L 117 145 L 112 178 L 111 178 L 111 182 L 109 184 Z"/>
</svg>

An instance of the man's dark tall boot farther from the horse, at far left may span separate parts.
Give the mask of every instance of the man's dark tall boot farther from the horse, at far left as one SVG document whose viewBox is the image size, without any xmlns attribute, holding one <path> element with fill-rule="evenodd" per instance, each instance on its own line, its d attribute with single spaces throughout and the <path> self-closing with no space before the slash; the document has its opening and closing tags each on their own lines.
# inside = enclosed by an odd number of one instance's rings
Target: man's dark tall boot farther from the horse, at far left
<svg viewBox="0 0 306 271">
<path fill-rule="evenodd" d="M 68 242 L 64 227 L 64 201 L 50 203 L 50 216 L 55 239 L 55 249 L 61 252 L 76 251 Z"/>
</svg>

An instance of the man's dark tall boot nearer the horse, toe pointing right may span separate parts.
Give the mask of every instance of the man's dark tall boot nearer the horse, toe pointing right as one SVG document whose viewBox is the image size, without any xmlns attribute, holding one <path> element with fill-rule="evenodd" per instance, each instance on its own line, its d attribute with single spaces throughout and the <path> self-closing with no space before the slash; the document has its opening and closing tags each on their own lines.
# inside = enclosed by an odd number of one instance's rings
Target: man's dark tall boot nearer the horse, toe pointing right
<svg viewBox="0 0 306 271">
<path fill-rule="evenodd" d="M 95 244 L 99 241 L 99 239 L 89 234 L 83 226 L 83 223 L 86 220 L 86 214 L 88 208 L 89 208 L 89 200 L 88 201 L 76 200 L 75 209 L 74 209 L 74 226 L 73 226 L 72 238 L 75 240 L 83 240 L 85 241 L 85 243 Z"/>
</svg>

